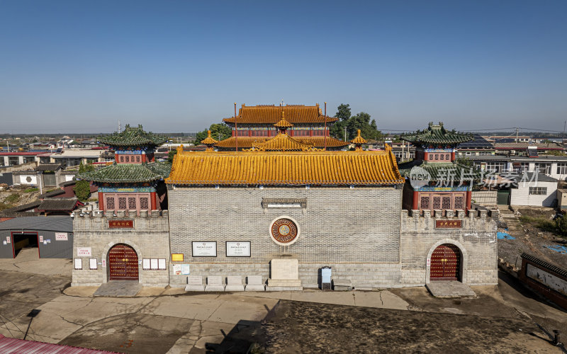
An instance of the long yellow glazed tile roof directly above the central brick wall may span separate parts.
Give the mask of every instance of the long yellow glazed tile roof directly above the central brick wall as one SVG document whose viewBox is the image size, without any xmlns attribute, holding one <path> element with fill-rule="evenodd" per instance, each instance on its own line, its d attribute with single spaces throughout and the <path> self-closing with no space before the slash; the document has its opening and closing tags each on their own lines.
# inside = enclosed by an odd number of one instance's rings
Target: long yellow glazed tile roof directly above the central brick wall
<svg viewBox="0 0 567 354">
<path fill-rule="evenodd" d="M 173 185 L 402 184 L 391 149 L 376 152 L 180 152 Z"/>
</svg>

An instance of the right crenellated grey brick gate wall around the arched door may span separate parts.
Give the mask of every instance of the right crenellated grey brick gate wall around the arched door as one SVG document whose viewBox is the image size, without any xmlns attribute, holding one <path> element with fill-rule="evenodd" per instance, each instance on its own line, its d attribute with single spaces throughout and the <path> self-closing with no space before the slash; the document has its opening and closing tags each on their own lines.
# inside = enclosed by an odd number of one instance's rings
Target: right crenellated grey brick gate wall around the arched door
<svg viewBox="0 0 567 354">
<path fill-rule="evenodd" d="M 454 244 L 461 250 L 461 281 L 468 285 L 498 283 L 498 247 L 496 224 L 488 212 L 459 211 L 456 216 L 441 217 L 437 210 L 432 216 L 425 210 L 402 211 L 401 224 L 401 282 L 405 285 L 424 285 L 430 280 L 427 258 L 441 244 Z M 437 229 L 435 220 L 461 220 L 459 229 Z"/>
</svg>

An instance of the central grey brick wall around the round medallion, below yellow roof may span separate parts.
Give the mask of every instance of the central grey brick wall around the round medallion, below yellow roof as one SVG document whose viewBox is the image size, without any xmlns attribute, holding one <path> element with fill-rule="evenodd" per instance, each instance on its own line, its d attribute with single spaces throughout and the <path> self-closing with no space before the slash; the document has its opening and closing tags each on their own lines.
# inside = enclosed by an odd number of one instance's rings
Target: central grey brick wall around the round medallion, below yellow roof
<svg viewBox="0 0 567 354">
<path fill-rule="evenodd" d="M 316 287 L 318 270 L 332 266 L 332 277 L 358 284 L 399 285 L 402 190 L 385 188 L 172 188 L 169 224 L 172 253 L 183 253 L 191 275 L 262 275 L 269 261 L 297 258 L 303 286 Z M 266 208 L 262 198 L 305 198 L 303 208 Z M 291 246 L 271 240 L 279 217 L 296 220 L 301 233 Z M 217 257 L 193 257 L 192 241 L 216 241 Z M 250 241 L 251 257 L 225 256 L 225 241 Z M 170 271 L 172 286 L 186 275 Z"/>
</svg>

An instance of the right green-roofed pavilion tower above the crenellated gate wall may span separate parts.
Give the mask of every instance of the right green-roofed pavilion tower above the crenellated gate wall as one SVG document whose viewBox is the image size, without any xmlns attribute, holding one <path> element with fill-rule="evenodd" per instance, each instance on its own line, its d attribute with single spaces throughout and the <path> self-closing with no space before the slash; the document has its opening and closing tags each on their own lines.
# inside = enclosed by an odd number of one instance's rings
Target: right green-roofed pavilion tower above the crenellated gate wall
<svg viewBox="0 0 567 354">
<path fill-rule="evenodd" d="M 456 146 L 473 139 L 443 123 L 430 122 L 425 130 L 402 135 L 401 139 L 415 146 L 415 159 L 400 164 L 400 173 L 408 178 L 405 183 L 403 207 L 407 210 L 469 210 L 473 181 L 478 171 L 461 166 L 455 161 Z"/>
</svg>

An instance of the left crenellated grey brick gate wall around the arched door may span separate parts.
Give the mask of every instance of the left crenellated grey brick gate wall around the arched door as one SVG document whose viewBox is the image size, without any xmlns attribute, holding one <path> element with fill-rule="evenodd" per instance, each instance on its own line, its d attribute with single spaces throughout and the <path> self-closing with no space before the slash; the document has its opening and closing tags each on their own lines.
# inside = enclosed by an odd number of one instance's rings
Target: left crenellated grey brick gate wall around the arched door
<svg viewBox="0 0 567 354">
<path fill-rule="evenodd" d="M 93 215 L 94 214 L 94 215 Z M 145 286 L 166 286 L 169 282 L 169 221 L 167 210 L 142 212 L 140 217 L 126 217 L 118 212 L 103 216 L 96 210 L 91 215 L 74 217 L 73 258 L 77 258 L 77 247 L 91 247 L 92 256 L 82 258 L 82 270 L 73 270 L 72 285 L 101 285 L 108 281 L 108 251 L 116 244 L 127 244 L 137 253 L 139 280 Z M 133 220 L 133 229 L 109 229 L 109 220 Z M 89 269 L 89 258 L 99 263 L 96 270 Z M 143 258 L 165 258 L 165 270 L 143 270 Z M 102 261 L 106 266 L 102 266 Z"/>
</svg>

